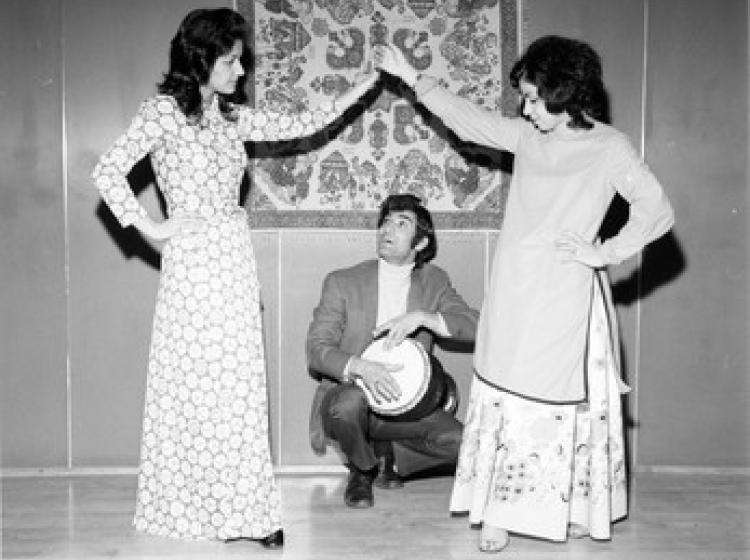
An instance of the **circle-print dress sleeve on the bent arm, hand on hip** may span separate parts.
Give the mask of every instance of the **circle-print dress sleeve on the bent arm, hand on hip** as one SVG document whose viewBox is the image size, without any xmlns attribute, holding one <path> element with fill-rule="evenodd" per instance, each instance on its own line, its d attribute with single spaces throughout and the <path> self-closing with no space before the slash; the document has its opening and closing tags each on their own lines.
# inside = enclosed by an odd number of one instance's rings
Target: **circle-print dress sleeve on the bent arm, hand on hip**
<svg viewBox="0 0 750 560">
<path fill-rule="evenodd" d="M 159 124 L 157 103 L 152 98 L 141 104 L 127 131 L 102 154 L 92 172 L 99 194 L 122 227 L 146 215 L 130 188 L 127 175 L 161 138 L 163 129 Z"/>
</svg>

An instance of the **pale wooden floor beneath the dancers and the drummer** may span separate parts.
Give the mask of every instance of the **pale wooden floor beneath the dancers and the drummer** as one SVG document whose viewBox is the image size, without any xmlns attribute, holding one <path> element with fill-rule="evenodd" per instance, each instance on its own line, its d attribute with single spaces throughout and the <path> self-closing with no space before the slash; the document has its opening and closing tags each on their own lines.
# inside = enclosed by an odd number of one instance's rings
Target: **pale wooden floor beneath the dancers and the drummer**
<svg viewBox="0 0 750 560">
<path fill-rule="evenodd" d="M 380 490 L 375 507 L 344 506 L 341 475 L 280 477 L 287 544 L 185 542 L 131 528 L 132 476 L 5 478 L 2 558 L 440 560 L 471 558 L 734 560 L 750 558 L 750 480 L 741 475 L 639 474 L 631 515 L 613 539 L 567 543 L 513 536 L 501 555 L 446 513 L 452 479 Z"/>
</svg>

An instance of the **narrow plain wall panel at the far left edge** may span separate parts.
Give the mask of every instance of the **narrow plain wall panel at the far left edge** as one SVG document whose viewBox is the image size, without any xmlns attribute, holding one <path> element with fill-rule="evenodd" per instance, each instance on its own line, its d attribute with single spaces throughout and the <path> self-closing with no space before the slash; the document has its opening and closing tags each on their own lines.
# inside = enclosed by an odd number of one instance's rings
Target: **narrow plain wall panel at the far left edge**
<svg viewBox="0 0 750 560">
<path fill-rule="evenodd" d="M 66 467 L 60 3 L 4 1 L 0 13 L 0 456 Z"/>
</svg>

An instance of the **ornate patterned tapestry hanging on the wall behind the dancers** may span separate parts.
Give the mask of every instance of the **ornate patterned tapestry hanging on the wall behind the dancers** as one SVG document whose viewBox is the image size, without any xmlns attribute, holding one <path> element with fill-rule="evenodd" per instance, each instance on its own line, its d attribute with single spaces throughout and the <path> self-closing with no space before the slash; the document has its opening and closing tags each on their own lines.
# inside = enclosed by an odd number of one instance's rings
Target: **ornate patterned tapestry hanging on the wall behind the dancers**
<svg viewBox="0 0 750 560">
<path fill-rule="evenodd" d="M 517 0 L 238 0 L 253 25 L 258 108 L 298 111 L 346 90 L 390 42 L 419 72 L 506 114 Z M 385 196 L 412 192 L 443 229 L 499 228 L 511 157 L 458 140 L 394 78 L 326 131 L 251 148 L 254 227 L 372 228 Z"/>
</svg>

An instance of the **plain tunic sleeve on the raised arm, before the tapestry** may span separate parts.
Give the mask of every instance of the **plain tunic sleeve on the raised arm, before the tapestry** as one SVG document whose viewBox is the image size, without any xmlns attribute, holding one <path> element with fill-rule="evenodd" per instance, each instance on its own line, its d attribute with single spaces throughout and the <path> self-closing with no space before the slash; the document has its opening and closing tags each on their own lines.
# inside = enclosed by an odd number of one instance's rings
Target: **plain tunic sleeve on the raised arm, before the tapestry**
<svg viewBox="0 0 750 560">
<path fill-rule="evenodd" d="M 462 140 L 515 153 L 521 134 L 528 128 L 523 119 L 505 117 L 500 111 L 485 109 L 459 97 L 431 76 L 419 78 L 414 93 Z"/>
</svg>

